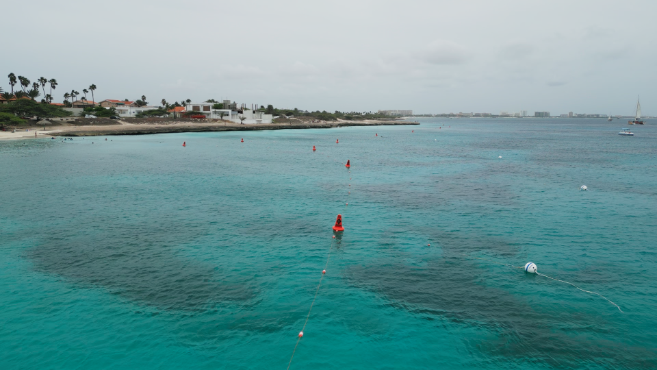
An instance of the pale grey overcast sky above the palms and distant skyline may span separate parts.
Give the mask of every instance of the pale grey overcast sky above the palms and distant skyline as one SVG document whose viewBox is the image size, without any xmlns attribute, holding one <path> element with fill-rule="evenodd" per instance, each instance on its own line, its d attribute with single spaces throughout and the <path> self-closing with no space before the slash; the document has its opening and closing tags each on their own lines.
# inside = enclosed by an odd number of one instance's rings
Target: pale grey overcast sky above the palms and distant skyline
<svg viewBox="0 0 657 370">
<path fill-rule="evenodd" d="M 4 1 L 6 75 L 55 98 L 657 114 L 657 1 Z M 89 96 L 88 99 L 91 99 Z"/>
</svg>

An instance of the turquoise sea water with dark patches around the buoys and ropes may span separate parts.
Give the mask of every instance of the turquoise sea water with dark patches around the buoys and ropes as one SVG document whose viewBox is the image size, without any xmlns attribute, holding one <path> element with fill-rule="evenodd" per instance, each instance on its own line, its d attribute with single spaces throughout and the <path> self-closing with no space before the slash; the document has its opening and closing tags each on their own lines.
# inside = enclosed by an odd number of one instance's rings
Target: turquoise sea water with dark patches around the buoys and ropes
<svg viewBox="0 0 657 370">
<path fill-rule="evenodd" d="M 657 367 L 657 127 L 420 121 L 0 142 L 0 369 Z"/>
</svg>

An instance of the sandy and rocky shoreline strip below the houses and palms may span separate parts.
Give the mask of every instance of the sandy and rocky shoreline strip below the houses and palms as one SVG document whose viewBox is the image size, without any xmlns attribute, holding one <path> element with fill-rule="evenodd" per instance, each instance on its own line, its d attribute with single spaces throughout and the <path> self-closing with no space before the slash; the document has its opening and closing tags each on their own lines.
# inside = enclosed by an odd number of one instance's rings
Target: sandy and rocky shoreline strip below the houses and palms
<svg viewBox="0 0 657 370">
<path fill-rule="evenodd" d="M 28 138 L 44 138 L 53 136 L 116 136 L 116 135 L 148 135 L 167 134 L 172 132 L 215 132 L 215 131 L 252 131 L 252 130 L 296 130 L 354 126 L 391 126 L 391 125 L 420 125 L 411 121 L 322 121 L 322 122 L 285 122 L 264 123 L 257 125 L 241 125 L 229 121 L 194 122 L 169 121 L 167 123 L 127 123 L 117 121 L 116 125 L 55 125 L 46 127 L 29 127 L 31 130 L 20 132 L 1 132 L 0 140 L 18 140 Z M 35 136 L 36 133 L 36 136 Z"/>
</svg>

